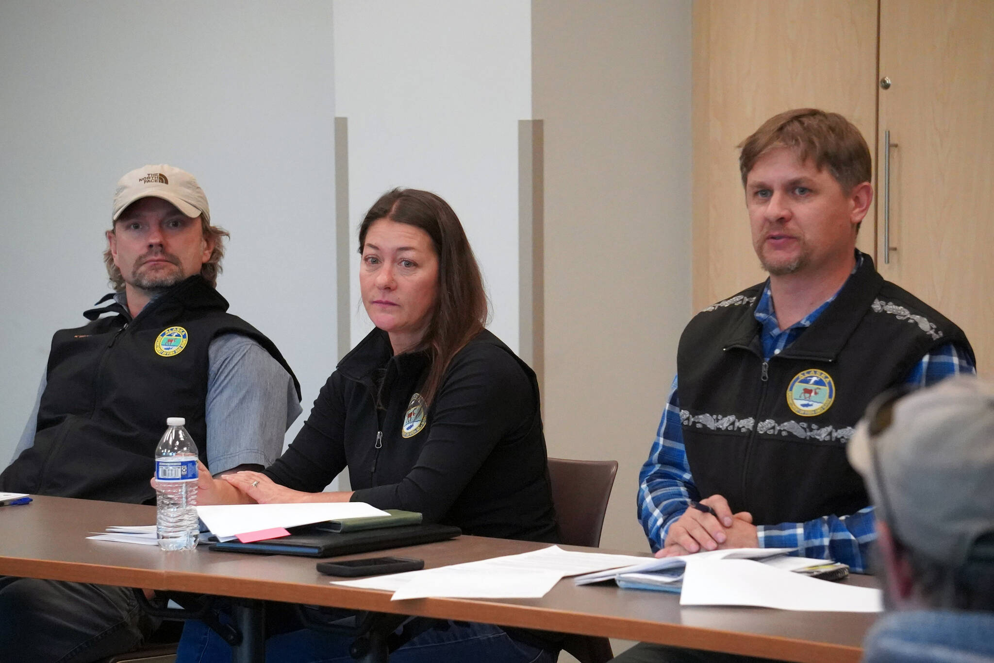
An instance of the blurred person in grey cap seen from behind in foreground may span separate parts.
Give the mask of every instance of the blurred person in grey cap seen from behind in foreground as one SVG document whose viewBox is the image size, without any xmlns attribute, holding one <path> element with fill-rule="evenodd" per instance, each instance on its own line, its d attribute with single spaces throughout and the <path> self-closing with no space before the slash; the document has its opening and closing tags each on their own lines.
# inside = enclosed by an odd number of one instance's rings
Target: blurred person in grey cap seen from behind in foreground
<svg viewBox="0 0 994 663">
<path fill-rule="evenodd" d="M 864 660 L 994 660 L 994 385 L 957 377 L 901 397 L 873 401 L 847 449 L 898 610 Z"/>
</svg>

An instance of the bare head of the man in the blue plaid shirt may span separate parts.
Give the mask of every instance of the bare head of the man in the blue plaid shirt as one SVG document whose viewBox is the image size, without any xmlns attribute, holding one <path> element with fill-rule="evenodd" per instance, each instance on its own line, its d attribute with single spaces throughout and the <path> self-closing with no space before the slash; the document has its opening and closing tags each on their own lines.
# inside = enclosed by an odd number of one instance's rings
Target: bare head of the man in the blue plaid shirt
<svg viewBox="0 0 994 663">
<path fill-rule="evenodd" d="M 752 247 L 773 276 L 821 274 L 851 264 L 873 201 L 870 148 L 838 113 L 787 110 L 740 145 Z"/>
</svg>

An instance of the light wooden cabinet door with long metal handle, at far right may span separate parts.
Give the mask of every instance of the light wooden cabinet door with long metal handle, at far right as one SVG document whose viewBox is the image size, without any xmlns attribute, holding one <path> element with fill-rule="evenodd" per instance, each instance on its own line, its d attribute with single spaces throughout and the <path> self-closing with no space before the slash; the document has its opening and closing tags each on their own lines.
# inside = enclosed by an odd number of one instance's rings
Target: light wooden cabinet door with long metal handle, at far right
<svg viewBox="0 0 994 663">
<path fill-rule="evenodd" d="M 994 369 L 994 2 L 882 0 L 877 261 Z M 890 131 L 890 192 L 884 172 Z M 890 262 L 884 206 L 890 193 Z"/>
</svg>

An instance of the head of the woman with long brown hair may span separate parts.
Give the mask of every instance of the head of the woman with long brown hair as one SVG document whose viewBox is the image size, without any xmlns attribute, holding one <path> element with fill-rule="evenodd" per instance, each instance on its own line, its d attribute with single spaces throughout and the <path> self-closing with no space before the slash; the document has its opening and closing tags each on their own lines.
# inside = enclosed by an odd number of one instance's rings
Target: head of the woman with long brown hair
<svg viewBox="0 0 994 663">
<path fill-rule="evenodd" d="M 417 189 L 380 197 L 359 227 L 359 285 L 394 354 L 424 350 L 430 403 L 449 361 L 482 329 L 487 298 L 473 250 L 452 208 Z"/>
</svg>

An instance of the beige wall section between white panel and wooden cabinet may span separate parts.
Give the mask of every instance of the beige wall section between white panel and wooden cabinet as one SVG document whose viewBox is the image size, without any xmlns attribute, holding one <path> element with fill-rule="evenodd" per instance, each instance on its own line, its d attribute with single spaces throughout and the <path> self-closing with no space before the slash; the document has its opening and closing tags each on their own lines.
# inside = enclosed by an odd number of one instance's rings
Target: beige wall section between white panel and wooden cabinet
<svg viewBox="0 0 994 663">
<path fill-rule="evenodd" d="M 533 6 L 546 441 L 553 456 L 618 461 L 601 546 L 648 550 L 638 470 L 691 315 L 691 2 Z"/>
</svg>

